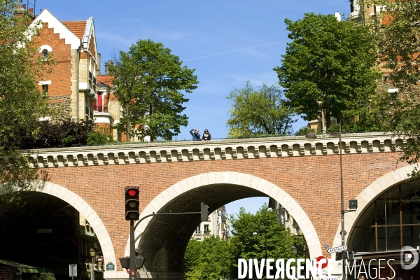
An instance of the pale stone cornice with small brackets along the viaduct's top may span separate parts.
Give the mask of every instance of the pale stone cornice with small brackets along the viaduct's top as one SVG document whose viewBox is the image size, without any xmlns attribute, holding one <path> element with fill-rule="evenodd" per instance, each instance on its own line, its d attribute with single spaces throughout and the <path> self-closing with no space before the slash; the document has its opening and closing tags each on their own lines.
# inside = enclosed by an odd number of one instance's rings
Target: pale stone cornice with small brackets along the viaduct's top
<svg viewBox="0 0 420 280">
<path fill-rule="evenodd" d="M 384 132 L 342 134 L 342 142 L 343 154 L 394 152 L 405 143 L 401 137 Z M 336 155 L 338 143 L 337 137 L 326 134 L 317 135 L 314 141 L 305 137 L 271 137 L 51 148 L 29 153 L 30 167 L 77 167 Z"/>
</svg>

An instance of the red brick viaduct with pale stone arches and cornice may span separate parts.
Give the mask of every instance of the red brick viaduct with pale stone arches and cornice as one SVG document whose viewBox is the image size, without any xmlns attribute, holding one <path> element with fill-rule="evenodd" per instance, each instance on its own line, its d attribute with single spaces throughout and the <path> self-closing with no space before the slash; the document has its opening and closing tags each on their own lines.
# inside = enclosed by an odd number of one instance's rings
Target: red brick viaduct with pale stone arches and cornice
<svg viewBox="0 0 420 280">
<path fill-rule="evenodd" d="M 407 179 L 413 167 L 396 165 L 402 139 L 391 134 L 344 134 L 344 201 L 358 199 L 346 214 L 346 231 L 384 190 Z M 127 279 L 118 258 L 129 255 L 124 188 L 139 186 L 141 216 L 158 211 L 209 211 L 245 197 L 279 201 L 307 239 L 311 258 L 323 244 L 340 243 L 338 139 L 304 137 L 188 141 L 32 151 L 31 167 L 48 174 L 36 191 L 64 200 L 83 214 L 97 234 L 105 279 Z M 246 207 L 246 205 L 244 205 Z M 182 279 L 186 244 L 197 216 L 148 218 L 137 228 L 146 256 L 142 278 Z M 347 235 L 349 237 L 349 235 Z M 322 246 L 321 246 L 322 245 Z"/>
</svg>

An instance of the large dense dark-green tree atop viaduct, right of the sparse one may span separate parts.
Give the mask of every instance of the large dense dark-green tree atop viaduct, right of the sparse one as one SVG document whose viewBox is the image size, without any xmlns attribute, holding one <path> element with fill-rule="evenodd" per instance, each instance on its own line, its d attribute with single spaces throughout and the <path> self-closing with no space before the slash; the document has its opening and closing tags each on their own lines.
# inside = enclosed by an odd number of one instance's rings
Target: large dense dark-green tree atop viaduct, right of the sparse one
<svg viewBox="0 0 420 280">
<path fill-rule="evenodd" d="M 333 15 L 306 13 L 303 20 L 285 22 L 292 42 L 274 71 L 296 113 L 314 120 L 325 112 L 327 128 L 330 116 L 366 116 L 380 77 L 374 34 Z"/>
</svg>

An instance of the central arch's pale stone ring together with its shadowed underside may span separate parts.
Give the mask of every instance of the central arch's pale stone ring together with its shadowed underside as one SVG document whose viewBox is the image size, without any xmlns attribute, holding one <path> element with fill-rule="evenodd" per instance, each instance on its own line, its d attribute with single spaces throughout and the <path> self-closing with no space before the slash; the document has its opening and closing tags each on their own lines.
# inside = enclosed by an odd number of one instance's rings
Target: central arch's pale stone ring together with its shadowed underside
<svg viewBox="0 0 420 280">
<path fill-rule="evenodd" d="M 311 258 L 322 254 L 314 225 L 300 205 L 278 186 L 249 174 L 211 172 L 190 177 L 160 193 L 141 216 L 153 212 L 197 212 L 200 202 L 209 204 L 211 213 L 229 202 L 262 196 L 267 197 L 267 202 L 268 197 L 272 197 L 295 218 L 307 240 Z M 152 276 L 158 272 L 173 272 L 172 276 L 178 273 L 181 277 L 186 246 L 199 224 L 199 214 L 162 215 L 142 222 L 135 234 L 138 248 L 146 257 L 144 271 Z M 125 254 L 129 253 L 127 244 Z"/>
</svg>

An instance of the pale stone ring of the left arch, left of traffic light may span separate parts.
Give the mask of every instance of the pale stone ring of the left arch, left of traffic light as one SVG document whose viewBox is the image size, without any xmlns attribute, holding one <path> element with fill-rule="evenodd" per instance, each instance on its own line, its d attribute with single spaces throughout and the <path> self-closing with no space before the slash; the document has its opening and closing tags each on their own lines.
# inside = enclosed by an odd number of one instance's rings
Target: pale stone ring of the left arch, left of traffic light
<svg viewBox="0 0 420 280">
<path fill-rule="evenodd" d="M 102 253 L 104 254 L 104 260 L 106 262 L 112 262 L 116 264 L 116 253 L 113 248 L 111 237 L 109 236 L 108 230 L 106 230 L 104 223 L 98 214 L 90 207 L 82 197 L 76 195 L 71 190 L 68 190 L 55 183 L 48 181 L 38 181 L 35 184 L 34 191 L 38 193 L 45 193 L 63 200 L 70 204 L 80 214 L 82 214 L 86 220 L 90 223 L 94 233 L 97 235 L 99 244 L 101 244 Z"/>
</svg>

